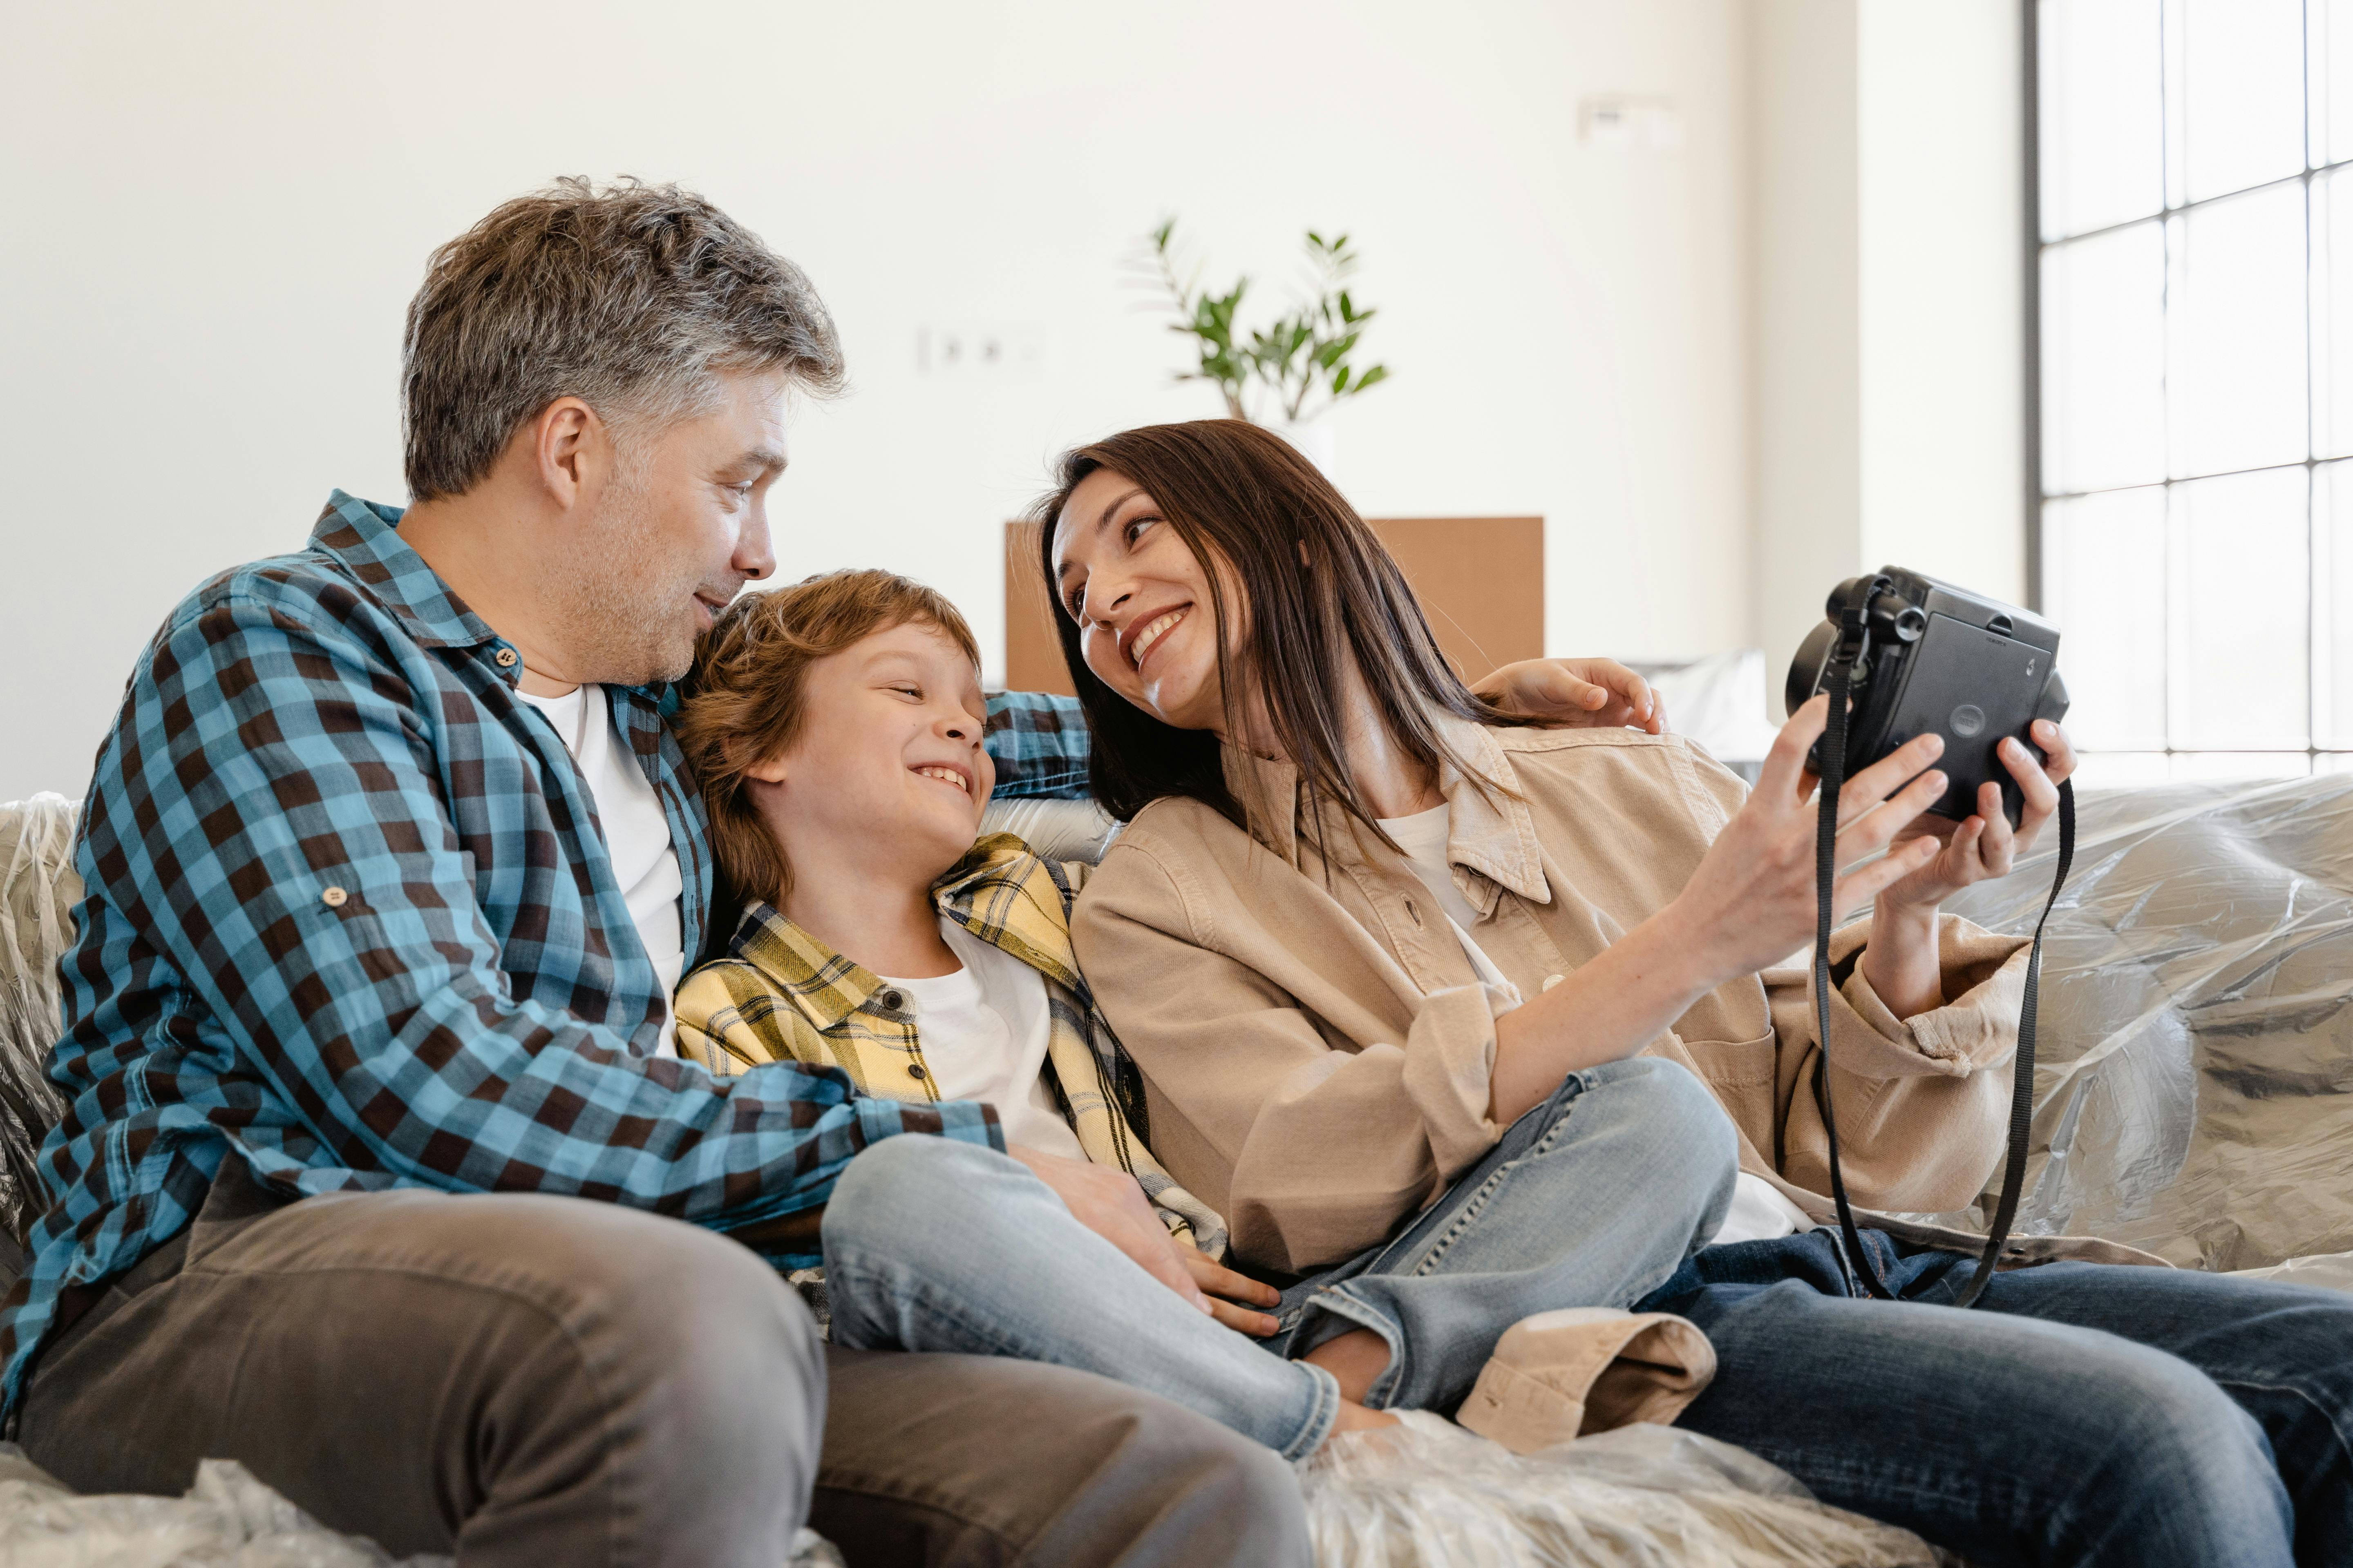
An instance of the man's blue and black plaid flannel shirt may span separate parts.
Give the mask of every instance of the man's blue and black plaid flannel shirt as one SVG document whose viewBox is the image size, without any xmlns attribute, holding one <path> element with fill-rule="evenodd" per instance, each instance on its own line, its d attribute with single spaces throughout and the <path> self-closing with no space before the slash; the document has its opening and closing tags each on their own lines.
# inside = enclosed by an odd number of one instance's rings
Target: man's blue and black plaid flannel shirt
<svg viewBox="0 0 2353 1568">
<path fill-rule="evenodd" d="M 784 1220 L 873 1140 L 1002 1147 L 986 1105 L 654 1056 L 654 966 L 595 802 L 515 698 L 513 649 L 398 522 L 336 491 L 306 550 L 198 588 L 129 679 L 75 846 L 52 1208 L 0 1302 L 9 1422 L 45 1335 L 179 1234 L 231 1154 L 289 1197 L 560 1192 L 805 1265 L 812 1227 Z M 696 954 L 711 846 L 678 698 L 607 691 L 671 820 Z M 1068 698 L 998 698 L 988 743 L 1000 795 L 1085 783 Z"/>
</svg>

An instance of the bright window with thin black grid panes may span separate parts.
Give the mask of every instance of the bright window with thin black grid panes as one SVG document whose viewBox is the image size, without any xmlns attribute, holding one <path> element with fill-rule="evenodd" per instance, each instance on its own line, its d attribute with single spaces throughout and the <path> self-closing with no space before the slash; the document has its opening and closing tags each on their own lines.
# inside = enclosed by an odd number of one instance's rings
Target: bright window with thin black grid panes
<svg viewBox="0 0 2353 1568">
<path fill-rule="evenodd" d="M 2082 778 L 2353 769 L 2353 0 L 2038 0 L 2035 134 Z"/>
</svg>

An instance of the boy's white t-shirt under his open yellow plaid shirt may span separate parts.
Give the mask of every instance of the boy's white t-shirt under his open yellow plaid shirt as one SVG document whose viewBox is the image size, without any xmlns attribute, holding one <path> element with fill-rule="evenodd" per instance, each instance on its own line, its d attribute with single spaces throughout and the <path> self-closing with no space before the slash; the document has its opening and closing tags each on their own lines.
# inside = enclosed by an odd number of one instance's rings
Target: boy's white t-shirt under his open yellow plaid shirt
<svg viewBox="0 0 2353 1568">
<path fill-rule="evenodd" d="M 1045 1084 L 1052 1027 L 1045 976 L 948 917 L 939 919 L 939 933 L 962 969 L 925 980 L 878 976 L 906 992 L 932 1088 L 941 1100 L 995 1105 L 1005 1143 L 1085 1159 L 1078 1133 L 1061 1119 Z"/>
</svg>

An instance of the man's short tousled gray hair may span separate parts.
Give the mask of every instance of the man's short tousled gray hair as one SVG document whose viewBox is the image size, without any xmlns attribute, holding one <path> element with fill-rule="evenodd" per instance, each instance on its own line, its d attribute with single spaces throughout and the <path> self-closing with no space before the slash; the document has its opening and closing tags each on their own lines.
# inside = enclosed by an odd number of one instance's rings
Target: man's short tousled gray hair
<svg viewBox="0 0 2353 1568">
<path fill-rule="evenodd" d="M 412 501 L 489 477 L 558 397 L 609 425 L 713 407 L 720 371 L 842 386 L 807 275 L 678 186 L 586 179 L 506 202 L 433 252 L 409 301 L 400 411 Z"/>
</svg>

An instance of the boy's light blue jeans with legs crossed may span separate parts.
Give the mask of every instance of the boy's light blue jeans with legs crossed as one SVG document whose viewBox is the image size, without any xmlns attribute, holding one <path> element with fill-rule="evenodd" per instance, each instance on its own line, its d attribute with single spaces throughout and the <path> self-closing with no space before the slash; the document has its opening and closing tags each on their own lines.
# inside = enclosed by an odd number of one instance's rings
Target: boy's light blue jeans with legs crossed
<svg viewBox="0 0 2353 1568">
<path fill-rule="evenodd" d="M 1675 1274 L 1722 1222 L 1734 1171 L 1732 1121 L 1680 1065 L 1569 1074 L 1402 1234 L 1294 1284 L 1282 1331 L 1249 1340 L 1073 1220 L 1024 1164 L 889 1138 L 826 1206 L 833 1340 L 1075 1366 L 1304 1458 L 1332 1432 L 1339 1385 L 1292 1356 L 1372 1328 L 1391 1361 L 1367 1403 L 1452 1413 L 1522 1316 L 1626 1307 Z"/>
</svg>

